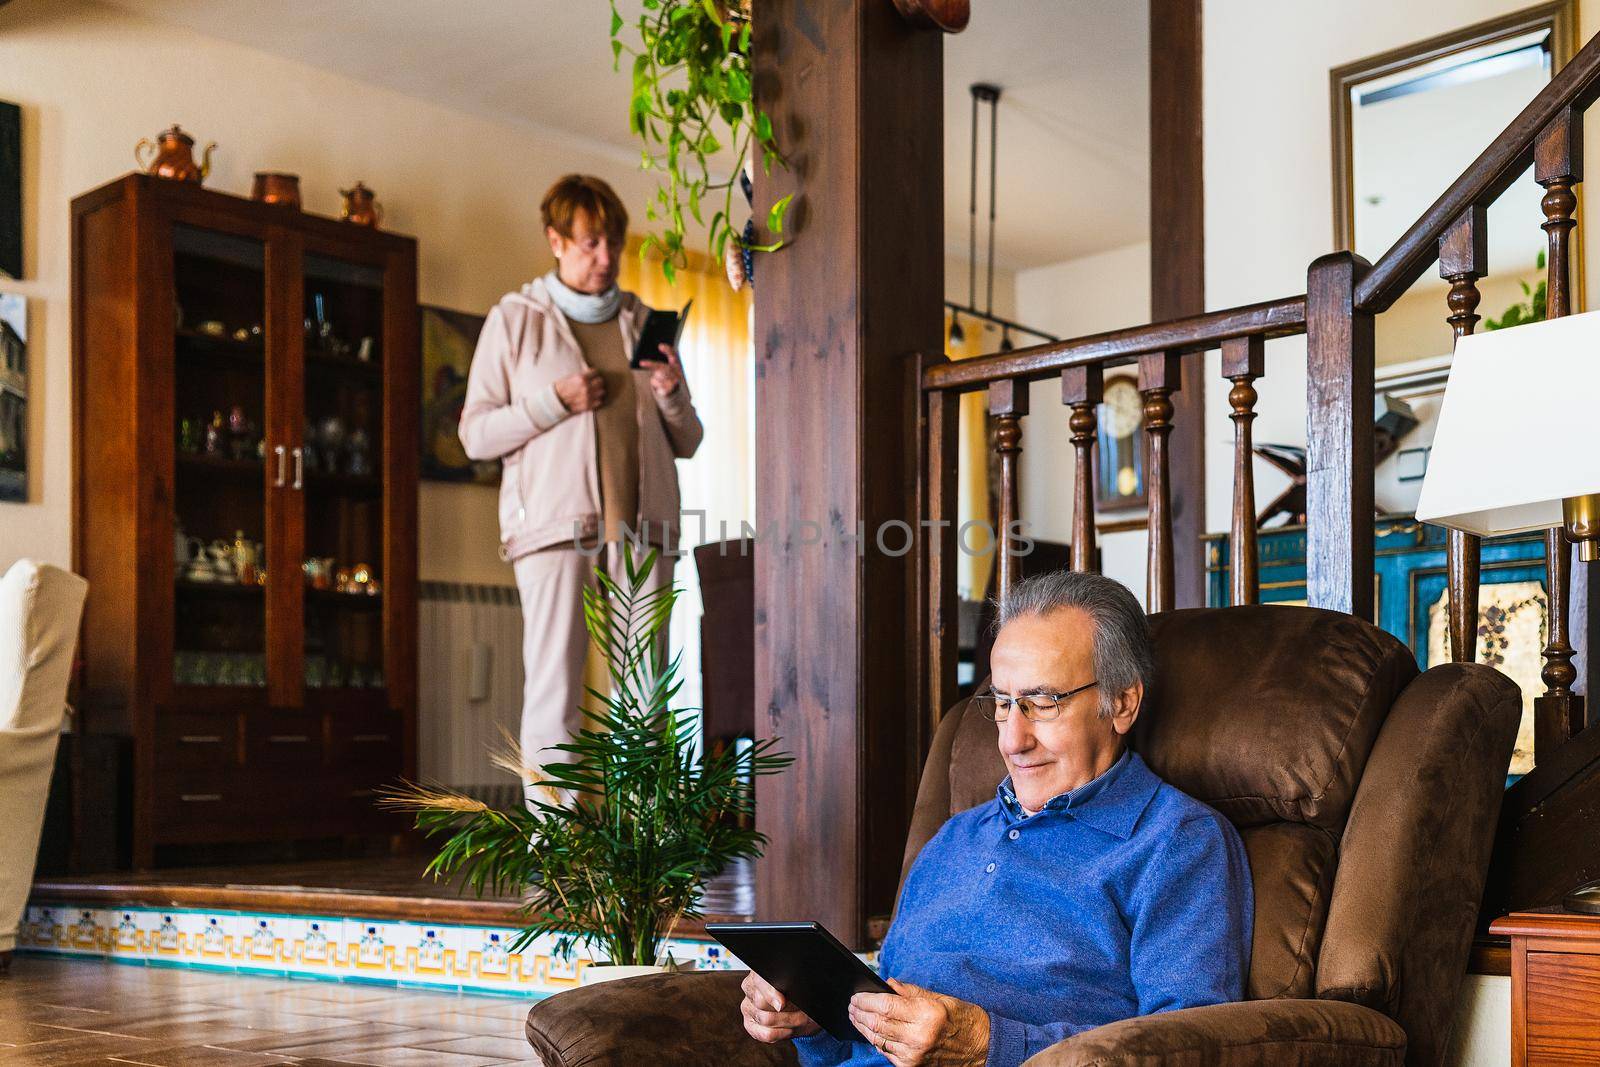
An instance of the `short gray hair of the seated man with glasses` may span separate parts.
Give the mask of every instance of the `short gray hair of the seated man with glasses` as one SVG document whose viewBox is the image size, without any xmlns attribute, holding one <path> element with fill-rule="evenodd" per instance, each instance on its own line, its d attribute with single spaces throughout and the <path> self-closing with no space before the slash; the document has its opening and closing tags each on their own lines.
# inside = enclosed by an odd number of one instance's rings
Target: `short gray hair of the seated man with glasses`
<svg viewBox="0 0 1600 1067">
<path fill-rule="evenodd" d="M 1122 582 L 1104 574 L 1051 571 L 1026 577 L 998 601 L 998 630 L 1011 619 L 1077 608 L 1094 622 L 1094 678 L 1099 681 L 1099 713 L 1109 718 L 1117 694 L 1155 681 L 1155 646 L 1144 606 Z"/>
</svg>

